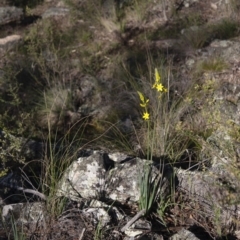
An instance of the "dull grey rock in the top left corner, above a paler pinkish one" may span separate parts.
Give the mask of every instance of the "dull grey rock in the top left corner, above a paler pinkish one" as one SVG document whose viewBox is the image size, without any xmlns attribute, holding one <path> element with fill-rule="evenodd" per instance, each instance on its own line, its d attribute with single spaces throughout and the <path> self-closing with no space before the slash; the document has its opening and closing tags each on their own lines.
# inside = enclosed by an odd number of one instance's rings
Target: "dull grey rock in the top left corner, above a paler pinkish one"
<svg viewBox="0 0 240 240">
<path fill-rule="evenodd" d="M 23 9 L 17 7 L 0 7 L 0 26 L 19 21 L 23 17 Z"/>
</svg>

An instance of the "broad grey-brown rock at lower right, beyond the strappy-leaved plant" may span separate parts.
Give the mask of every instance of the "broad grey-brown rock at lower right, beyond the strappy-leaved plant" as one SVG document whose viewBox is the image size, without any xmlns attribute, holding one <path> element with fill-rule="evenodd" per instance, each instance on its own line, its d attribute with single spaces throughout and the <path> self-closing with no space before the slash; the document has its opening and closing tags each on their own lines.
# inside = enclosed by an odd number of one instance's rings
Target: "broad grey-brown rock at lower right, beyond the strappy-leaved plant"
<svg viewBox="0 0 240 240">
<path fill-rule="evenodd" d="M 176 170 L 179 189 L 201 206 L 205 216 L 214 223 L 215 231 L 220 227 L 224 234 L 231 234 L 231 231 L 238 229 L 237 222 L 240 219 L 240 205 L 237 201 L 239 191 L 236 191 L 239 187 L 236 187 L 236 182 L 235 185 L 228 182 L 228 175 L 228 172 L 220 175 L 212 171 Z"/>
</svg>

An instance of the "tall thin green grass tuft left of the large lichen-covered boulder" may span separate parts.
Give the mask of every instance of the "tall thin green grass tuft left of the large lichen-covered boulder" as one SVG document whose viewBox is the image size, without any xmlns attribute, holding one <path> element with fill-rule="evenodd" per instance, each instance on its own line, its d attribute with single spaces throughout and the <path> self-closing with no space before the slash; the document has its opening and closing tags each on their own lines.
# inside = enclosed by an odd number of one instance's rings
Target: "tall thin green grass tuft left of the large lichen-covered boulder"
<svg viewBox="0 0 240 240">
<path fill-rule="evenodd" d="M 69 142 L 68 134 L 64 139 L 52 143 L 51 127 L 49 123 L 48 150 L 41 163 L 40 178 L 35 176 L 35 181 L 42 186 L 41 191 L 47 196 L 46 208 L 50 219 L 55 220 L 63 212 L 67 199 L 57 195 L 57 189 L 62 176 L 70 166 L 72 161 L 77 157 L 80 144 L 79 139 L 71 139 Z M 34 172 L 33 172 L 34 174 Z"/>
</svg>

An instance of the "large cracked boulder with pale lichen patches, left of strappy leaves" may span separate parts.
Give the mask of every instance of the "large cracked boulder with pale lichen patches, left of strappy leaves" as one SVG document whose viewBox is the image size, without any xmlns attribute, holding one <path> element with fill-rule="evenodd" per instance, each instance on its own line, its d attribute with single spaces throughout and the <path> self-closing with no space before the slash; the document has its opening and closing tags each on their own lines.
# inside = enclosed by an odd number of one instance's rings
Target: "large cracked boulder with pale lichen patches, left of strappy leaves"
<svg viewBox="0 0 240 240">
<path fill-rule="evenodd" d="M 122 159 L 121 156 L 120 158 Z M 58 194 L 75 201 L 87 198 L 109 199 L 121 204 L 126 203 L 126 201 L 129 203 L 138 202 L 141 177 L 139 173 L 144 171 L 149 161 L 140 158 L 126 158 L 119 162 L 117 159 L 115 160 L 116 162 L 107 153 L 101 151 L 94 151 L 88 157 L 80 157 L 78 161 L 72 163 L 64 174 Z M 165 173 L 163 182 L 166 181 L 166 185 L 162 187 L 161 191 L 168 194 L 171 187 L 169 183 L 167 184 L 167 178 L 172 177 L 172 172 L 165 171 Z M 152 174 L 154 178 L 156 174 L 159 174 L 159 170 L 154 167 Z"/>
</svg>

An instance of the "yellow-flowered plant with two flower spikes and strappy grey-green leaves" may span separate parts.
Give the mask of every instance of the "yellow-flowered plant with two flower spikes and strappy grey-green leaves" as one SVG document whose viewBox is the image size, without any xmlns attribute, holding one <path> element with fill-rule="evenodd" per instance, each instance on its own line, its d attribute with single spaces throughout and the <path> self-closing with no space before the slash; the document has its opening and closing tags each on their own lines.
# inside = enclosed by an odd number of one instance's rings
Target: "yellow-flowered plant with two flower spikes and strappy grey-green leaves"
<svg viewBox="0 0 240 240">
<path fill-rule="evenodd" d="M 156 96 L 156 107 L 154 103 L 150 105 L 151 101 L 146 98 L 141 92 L 138 92 L 140 98 L 140 106 L 143 108 L 142 118 L 147 122 L 147 159 L 152 161 L 153 158 L 153 148 L 155 139 L 158 137 L 156 131 L 159 126 L 159 116 L 161 107 L 161 96 L 162 93 L 167 92 L 167 89 L 161 83 L 161 77 L 158 70 L 155 68 L 155 79 L 152 85 L 152 90 L 154 91 L 154 96 Z M 155 94 L 156 93 L 156 94 Z M 154 101 L 154 99 L 152 99 Z M 150 113 L 151 107 L 151 113 Z M 160 119 L 161 121 L 161 119 Z M 162 173 L 153 174 L 153 168 L 151 163 L 144 166 L 143 174 L 140 176 L 140 199 L 139 208 L 144 211 L 144 215 L 147 216 L 151 213 L 156 201 L 159 200 L 160 188 L 162 184 Z M 163 215 L 163 214 L 162 214 Z M 162 216 L 161 216 L 162 217 Z"/>
</svg>

